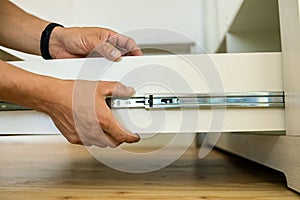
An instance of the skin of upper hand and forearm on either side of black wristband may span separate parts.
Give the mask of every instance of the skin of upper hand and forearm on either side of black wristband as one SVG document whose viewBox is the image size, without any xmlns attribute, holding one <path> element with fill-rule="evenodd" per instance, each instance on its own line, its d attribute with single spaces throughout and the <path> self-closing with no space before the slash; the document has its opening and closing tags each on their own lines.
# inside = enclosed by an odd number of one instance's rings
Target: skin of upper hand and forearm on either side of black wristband
<svg viewBox="0 0 300 200">
<path fill-rule="evenodd" d="M 0 44 L 26 53 L 41 55 L 40 37 L 48 21 L 30 15 L 7 0 L 0 1 Z M 110 60 L 123 54 L 140 56 L 135 41 L 115 31 L 98 27 L 56 27 L 50 38 L 53 58 L 85 57 L 92 51 Z"/>
</svg>

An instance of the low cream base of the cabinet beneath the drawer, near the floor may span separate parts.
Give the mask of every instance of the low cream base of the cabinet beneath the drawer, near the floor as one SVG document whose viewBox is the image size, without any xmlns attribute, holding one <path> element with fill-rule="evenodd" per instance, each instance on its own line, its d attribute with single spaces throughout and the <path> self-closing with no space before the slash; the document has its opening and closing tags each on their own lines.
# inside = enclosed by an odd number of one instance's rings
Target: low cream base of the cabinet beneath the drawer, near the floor
<svg viewBox="0 0 300 200">
<path fill-rule="evenodd" d="M 217 147 L 284 173 L 287 186 L 300 191 L 300 137 L 222 133 Z"/>
</svg>

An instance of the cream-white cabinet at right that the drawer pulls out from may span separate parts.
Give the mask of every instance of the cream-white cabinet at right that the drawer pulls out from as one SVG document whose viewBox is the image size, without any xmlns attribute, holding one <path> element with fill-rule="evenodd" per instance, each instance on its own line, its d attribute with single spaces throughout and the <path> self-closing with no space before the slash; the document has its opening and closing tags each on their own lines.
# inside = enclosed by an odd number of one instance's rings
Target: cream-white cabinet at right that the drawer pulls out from
<svg viewBox="0 0 300 200">
<path fill-rule="evenodd" d="M 280 27 L 277 24 L 279 18 L 276 19 L 276 16 L 280 16 Z M 223 50 L 257 52 L 278 51 L 282 48 L 286 131 L 282 132 L 281 136 L 270 136 L 265 133 L 260 135 L 223 133 L 217 143 L 218 148 L 282 171 L 287 178 L 288 186 L 298 192 L 300 191 L 299 16 L 298 0 L 245 0 L 241 5 L 239 14 L 225 36 L 227 43 Z M 270 70 L 264 74 L 264 79 L 273 76 L 273 72 Z"/>
</svg>

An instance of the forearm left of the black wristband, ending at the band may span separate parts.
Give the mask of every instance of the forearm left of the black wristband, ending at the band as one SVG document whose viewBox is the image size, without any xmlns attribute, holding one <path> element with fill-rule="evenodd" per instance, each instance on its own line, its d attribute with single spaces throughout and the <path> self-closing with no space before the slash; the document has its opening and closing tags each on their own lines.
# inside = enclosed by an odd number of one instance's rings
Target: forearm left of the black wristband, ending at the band
<svg viewBox="0 0 300 200">
<path fill-rule="evenodd" d="M 40 55 L 40 37 L 49 22 L 26 13 L 7 0 L 0 1 L 0 45 Z"/>
</svg>

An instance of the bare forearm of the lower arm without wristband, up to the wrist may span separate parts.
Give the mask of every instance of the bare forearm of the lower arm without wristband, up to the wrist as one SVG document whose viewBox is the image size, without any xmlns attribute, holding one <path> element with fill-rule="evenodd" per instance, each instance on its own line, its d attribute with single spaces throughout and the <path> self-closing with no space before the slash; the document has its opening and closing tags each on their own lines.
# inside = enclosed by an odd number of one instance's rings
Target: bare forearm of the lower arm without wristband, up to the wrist
<svg viewBox="0 0 300 200">
<path fill-rule="evenodd" d="M 0 100 L 49 112 L 61 80 L 24 71 L 0 60 Z"/>
</svg>

